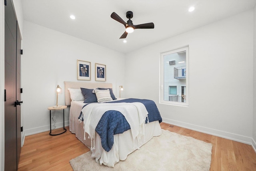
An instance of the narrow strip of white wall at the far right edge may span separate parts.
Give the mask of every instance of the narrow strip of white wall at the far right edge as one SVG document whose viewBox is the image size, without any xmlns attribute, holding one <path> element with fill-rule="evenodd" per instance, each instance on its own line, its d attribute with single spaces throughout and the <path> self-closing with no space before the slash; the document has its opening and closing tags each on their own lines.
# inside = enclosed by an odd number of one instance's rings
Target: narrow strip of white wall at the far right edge
<svg viewBox="0 0 256 171">
<path fill-rule="evenodd" d="M 252 147 L 256 152 L 256 6 L 254 7 L 254 60 L 253 60 L 253 129 Z"/>
</svg>

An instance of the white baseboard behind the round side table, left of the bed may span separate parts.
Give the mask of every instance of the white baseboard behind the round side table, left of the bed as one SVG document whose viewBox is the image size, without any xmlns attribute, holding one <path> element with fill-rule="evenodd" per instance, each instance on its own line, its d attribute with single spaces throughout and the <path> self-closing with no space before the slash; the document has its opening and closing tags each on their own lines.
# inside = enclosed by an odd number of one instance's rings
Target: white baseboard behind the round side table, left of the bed
<svg viewBox="0 0 256 171">
<path fill-rule="evenodd" d="M 63 122 L 55 123 L 55 125 L 56 125 L 55 129 L 62 128 L 63 127 Z M 65 125 L 65 127 L 69 126 L 69 121 L 65 121 L 64 125 Z M 53 128 L 53 126 L 52 126 L 52 128 Z M 24 130 L 24 135 L 25 136 L 34 135 L 36 133 L 41 133 L 41 132 L 46 132 L 46 131 L 50 131 L 50 125 L 45 125 L 45 126 L 42 126 L 42 127 L 36 127 L 36 128 L 32 128 L 32 129 L 25 129 Z M 24 136 L 24 140 L 25 140 L 25 136 Z"/>
</svg>

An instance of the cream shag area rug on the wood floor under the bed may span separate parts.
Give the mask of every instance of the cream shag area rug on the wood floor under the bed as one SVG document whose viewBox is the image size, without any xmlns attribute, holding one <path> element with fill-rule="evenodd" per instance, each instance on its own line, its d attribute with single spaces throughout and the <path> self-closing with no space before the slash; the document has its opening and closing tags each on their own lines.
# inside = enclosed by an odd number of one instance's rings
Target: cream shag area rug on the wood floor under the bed
<svg viewBox="0 0 256 171">
<path fill-rule="evenodd" d="M 70 160 L 74 171 L 209 171 L 212 144 L 162 129 L 162 135 L 119 161 L 114 168 L 96 163 L 88 151 Z"/>
</svg>

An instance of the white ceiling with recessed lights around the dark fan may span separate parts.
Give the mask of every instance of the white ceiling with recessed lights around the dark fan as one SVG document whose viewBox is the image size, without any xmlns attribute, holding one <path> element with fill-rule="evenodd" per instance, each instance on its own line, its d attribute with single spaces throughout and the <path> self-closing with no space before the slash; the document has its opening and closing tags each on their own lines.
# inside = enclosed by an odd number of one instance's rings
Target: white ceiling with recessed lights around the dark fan
<svg viewBox="0 0 256 171">
<path fill-rule="evenodd" d="M 128 53 L 188 30 L 254 8 L 256 0 L 22 0 L 24 20 Z M 194 6 L 194 12 L 188 8 Z M 153 22 L 154 29 L 136 29 L 123 43 L 125 27 L 110 18 L 116 12 L 133 24 Z M 76 16 L 75 20 L 70 15 Z"/>
</svg>

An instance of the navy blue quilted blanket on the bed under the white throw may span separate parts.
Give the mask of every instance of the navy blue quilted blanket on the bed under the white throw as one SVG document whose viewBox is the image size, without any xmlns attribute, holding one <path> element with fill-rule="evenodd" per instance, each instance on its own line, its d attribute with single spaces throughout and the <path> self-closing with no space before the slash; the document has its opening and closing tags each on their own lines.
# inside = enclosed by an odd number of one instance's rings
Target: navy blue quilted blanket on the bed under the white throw
<svg viewBox="0 0 256 171">
<path fill-rule="evenodd" d="M 152 121 L 159 121 L 159 123 L 162 122 L 162 117 L 158 111 L 158 108 L 156 106 L 156 103 L 152 100 L 148 99 L 123 99 L 123 100 L 118 100 L 118 101 L 111 101 L 107 103 L 133 103 L 133 102 L 140 102 L 144 104 L 148 111 L 148 119 L 146 118 L 145 123 L 152 122 Z M 86 104 L 87 105 L 87 104 Z M 84 107 L 86 106 L 84 105 Z M 82 112 L 79 116 L 79 119 L 82 115 Z M 83 120 L 83 118 L 82 118 Z M 118 133 L 123 133 L 124 131 L 127 131 L 130 129 L 130 125 L 125 119 L 124 115 L 122 115 L 121 112 L 115 111 L 115 110 L 110 110 L 106 111 L 95 131 L 100 135 L 101 138 L 101 144 L 102 147 L 104 148 L 105 151 L 110 151 L 114 144 L 114 135 Z"/>
</svg>

